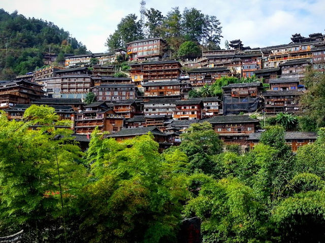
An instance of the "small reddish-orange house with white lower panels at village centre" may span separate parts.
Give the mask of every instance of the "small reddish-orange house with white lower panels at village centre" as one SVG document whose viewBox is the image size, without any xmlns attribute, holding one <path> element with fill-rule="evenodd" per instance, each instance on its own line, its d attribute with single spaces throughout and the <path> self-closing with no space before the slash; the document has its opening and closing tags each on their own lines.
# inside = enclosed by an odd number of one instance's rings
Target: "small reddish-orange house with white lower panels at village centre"
<svg viewBox="0 0 325 243">
<path fill-rule="evenodd" d="M 175 105 L 173 120 L 197 120 L 202 118 L 202 99 L 177 100 Z"/>
</svg>

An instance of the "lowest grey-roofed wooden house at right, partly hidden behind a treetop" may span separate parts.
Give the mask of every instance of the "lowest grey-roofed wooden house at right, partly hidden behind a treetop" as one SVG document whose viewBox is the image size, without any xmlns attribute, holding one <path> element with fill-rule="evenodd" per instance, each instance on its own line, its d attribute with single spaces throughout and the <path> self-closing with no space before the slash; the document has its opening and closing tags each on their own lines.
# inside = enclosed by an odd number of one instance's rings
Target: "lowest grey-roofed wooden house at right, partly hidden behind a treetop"
<svg viewBox="0 0 325 243">
<path fill-rule="evenodd" d="M 253 149 L 261 139 L 262 132 L 250 133 L 247 141 L 249 142 L 250 149 Z M 291 147 L 293 152 L 307 144 L 314 143 L 317 139 L 316 132 L 303 132 L 303 131 L 289 131 L 284 133 L 285 143 Z"/>
</svg>

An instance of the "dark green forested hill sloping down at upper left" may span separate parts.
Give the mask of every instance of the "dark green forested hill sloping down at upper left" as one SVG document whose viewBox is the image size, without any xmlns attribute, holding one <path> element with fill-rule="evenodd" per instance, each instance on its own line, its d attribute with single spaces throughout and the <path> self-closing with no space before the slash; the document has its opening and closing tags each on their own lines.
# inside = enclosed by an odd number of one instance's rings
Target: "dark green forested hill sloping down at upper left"
<svg viewBox="0 0 325 243">
<path fill-rule="evenodd" d="M 42 67 L 43 53 L 85 54 L 86 46 L 52 22 L 0 9 L 0 80 L 11 80 Z"/>
</svg>

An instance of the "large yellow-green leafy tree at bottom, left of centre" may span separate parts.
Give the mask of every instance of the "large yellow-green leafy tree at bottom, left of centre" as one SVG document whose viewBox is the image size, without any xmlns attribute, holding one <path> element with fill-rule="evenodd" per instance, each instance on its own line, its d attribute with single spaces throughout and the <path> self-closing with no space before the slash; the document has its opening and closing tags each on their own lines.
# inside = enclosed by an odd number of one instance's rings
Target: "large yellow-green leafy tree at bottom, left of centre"
<svg viewBox="0 0 325 243">
<path fill-rule="evenodd" d="M 96 136 L 89 148 L 96 180 L 84 188 L 79 205 L 85 241 L 175 241 L 187 192 L 183 180 L 168 172 L 168 160 L 160 159 L 152 135 L 122 144 Z"/>
</svg>

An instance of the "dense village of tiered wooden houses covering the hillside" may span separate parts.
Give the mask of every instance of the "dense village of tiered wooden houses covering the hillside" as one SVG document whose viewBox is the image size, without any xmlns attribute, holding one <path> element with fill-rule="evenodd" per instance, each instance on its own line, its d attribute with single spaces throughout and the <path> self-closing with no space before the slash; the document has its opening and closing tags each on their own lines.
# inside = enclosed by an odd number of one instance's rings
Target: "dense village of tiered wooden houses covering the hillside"
<svg viewBox="0 0 325 243">
<path fill-rule="evenodd" d="M 163 151 L 178 145 L 192 123 L 208 121 L 225 144 L 247 151 L 262 131 L 249 115 L 302 113 L 304 75 L 310 67 L 324 69 L 325 34 L 296 33 L 288 42 L 250 48 L 234 40 L 229 50 L 181 60 L 169 59 L 161 38 L 133 41 L 113 53 L 65 55 L 64 62 L 45 53 L 47 66 L 1 81 L 0 109 L 20 120 L 32 104 L 53 107 L 73 121 L 70 128 L 84 150 L 95 127 L 117 141 L 151 132 Z M 222 86 L 222 95 L 191 95 L 231 77 L 239 82 Z M 92 102 L 85 103 L 91 93 Z M 314 142 L 316 133 L 291 131 L 285 138 L 297 151 Z"/>
</svg>

